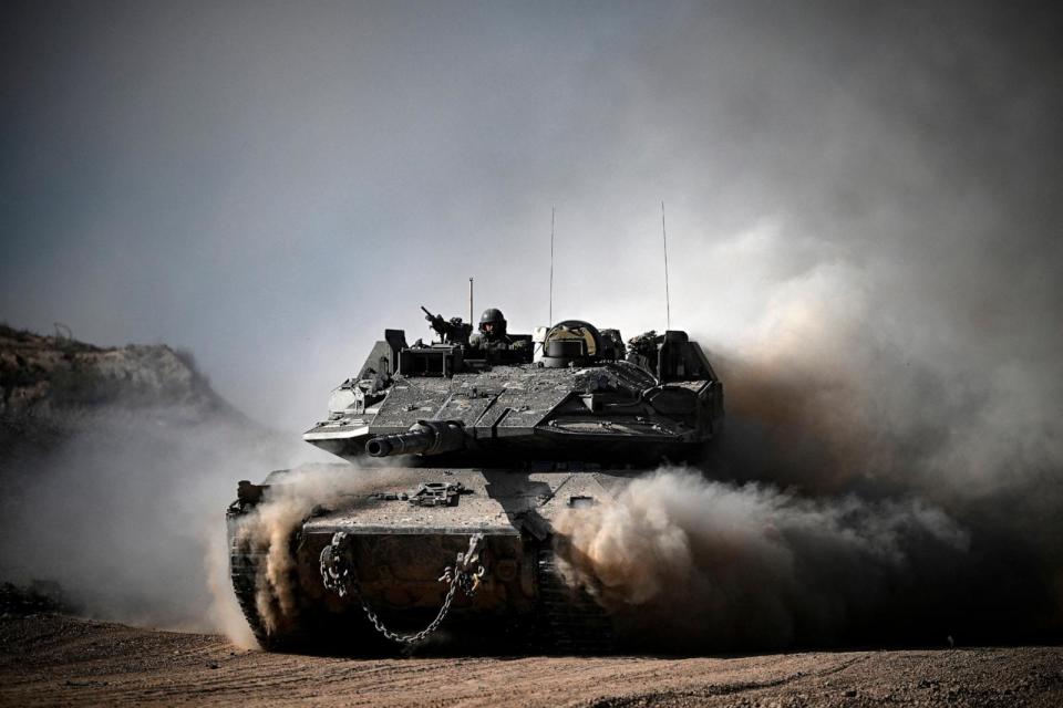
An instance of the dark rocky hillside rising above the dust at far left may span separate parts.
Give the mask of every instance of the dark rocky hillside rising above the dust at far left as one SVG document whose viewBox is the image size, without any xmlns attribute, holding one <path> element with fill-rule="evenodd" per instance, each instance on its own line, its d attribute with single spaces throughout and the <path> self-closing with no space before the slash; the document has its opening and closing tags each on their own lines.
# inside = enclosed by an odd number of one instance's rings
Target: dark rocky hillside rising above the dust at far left
<svg viewBox="0 0 1063 708">
<path fill-rule="evenodd" d="M 0 416 L 49 417 L 102 406 L 233 413 L 187 352 L 99 347 L 0 325 Z"/>
</svg>

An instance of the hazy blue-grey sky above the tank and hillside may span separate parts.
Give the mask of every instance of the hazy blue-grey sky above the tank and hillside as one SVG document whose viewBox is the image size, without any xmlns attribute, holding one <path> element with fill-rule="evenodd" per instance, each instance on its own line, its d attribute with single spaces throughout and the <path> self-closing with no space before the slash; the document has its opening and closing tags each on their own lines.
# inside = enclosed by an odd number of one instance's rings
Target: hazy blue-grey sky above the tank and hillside
<svg viewBox="0 0 1063 708">
<path fill-rule="evenodd" d="M 301 430 L 469 275 L 545 324 L 555 205 L 555 319 L 663 329 L 663 199 L 672 324 L 714 346 L 826 282 L 912 355 L 1047 381 L 1053 6 L 6 3 L 0 319 L 192 348 Z"/>
</svg>

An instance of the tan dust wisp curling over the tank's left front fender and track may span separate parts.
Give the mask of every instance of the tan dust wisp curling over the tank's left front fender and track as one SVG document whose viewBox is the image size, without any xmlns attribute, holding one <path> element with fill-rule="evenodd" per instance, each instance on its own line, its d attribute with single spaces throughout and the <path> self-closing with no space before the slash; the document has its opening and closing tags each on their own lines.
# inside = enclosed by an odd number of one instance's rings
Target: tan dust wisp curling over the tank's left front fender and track
<svg viewBox="0 0 1063 708">
<path fill-rule="evenodd" d="M 298 614 L 291 534 L 314 507 L 328 508 L 345 496 L 364 494 L 381 485 L 413 485 L 415 470 L 354 468 L 348 465 L 305 466 L 270 480 L 261 503 L 242 517 L 237 540 L 247 553 L 265 559 L 256 571 L 255 603 L 269 632 Z"/>
</svg>

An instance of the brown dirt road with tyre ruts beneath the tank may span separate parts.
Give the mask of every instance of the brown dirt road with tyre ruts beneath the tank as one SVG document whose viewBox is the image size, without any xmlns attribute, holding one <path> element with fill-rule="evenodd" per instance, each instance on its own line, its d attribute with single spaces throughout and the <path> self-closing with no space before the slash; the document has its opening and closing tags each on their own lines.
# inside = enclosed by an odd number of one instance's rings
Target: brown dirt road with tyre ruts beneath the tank
<svg viewBox="0 0 1063 708">
<path fill-rule="evenodd" d="M 0 618 L 0 704 L 1060 706 L 1063 647 L 350 659 L 56 615 Z"/>
</svg>

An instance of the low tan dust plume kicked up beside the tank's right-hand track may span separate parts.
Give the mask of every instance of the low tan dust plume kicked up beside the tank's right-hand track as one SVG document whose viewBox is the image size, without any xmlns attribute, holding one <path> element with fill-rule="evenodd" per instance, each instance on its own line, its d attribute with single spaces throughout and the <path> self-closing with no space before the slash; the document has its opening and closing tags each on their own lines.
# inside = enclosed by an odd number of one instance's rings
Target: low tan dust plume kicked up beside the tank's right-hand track
<svg viewBox="0 0 1063 708">
<path fill-rule="evenodd" d="M 741 648 L 848 637 L 907 605 L 967 534 L 916 501 L 802 499 L 665 469 L 556 524 L 568 577 L 651 644 Z M 627 616 L 640 606 L 646 612 Z"/>
</svg>

